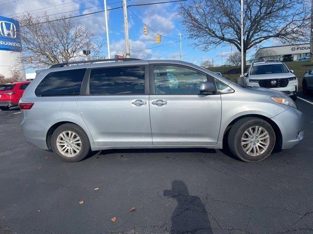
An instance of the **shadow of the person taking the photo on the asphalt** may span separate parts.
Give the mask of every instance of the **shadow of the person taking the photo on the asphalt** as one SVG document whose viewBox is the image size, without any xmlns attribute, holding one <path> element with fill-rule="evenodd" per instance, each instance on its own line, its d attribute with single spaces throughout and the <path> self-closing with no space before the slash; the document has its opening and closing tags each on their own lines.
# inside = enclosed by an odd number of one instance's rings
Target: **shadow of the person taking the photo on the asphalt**
<svg viewBox="0 0 313 234">
<path fill-rule="evenodd" d="M 163 195 L 176 199 L 178 203 L 171 218 L 172 234 L 212 234 L 204 204 L 198 196 L 189 195 L 187 185 L 182 180 L 174 180 L 172 190 L 164 190 Z"/>
</svg>

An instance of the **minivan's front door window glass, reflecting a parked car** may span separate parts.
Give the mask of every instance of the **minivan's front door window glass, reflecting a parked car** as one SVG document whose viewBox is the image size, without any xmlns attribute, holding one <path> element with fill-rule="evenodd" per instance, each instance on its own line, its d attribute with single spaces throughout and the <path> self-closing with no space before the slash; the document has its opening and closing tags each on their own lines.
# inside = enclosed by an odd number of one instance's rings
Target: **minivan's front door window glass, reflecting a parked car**
<svg viewBox="0 0 313 234">
<path fill-rule="evenodd" d="M 207 81 L 206 75 L 189 68 L 155 65 L 156 94 L 199 94 L 201 82 Z"/>
</svg>

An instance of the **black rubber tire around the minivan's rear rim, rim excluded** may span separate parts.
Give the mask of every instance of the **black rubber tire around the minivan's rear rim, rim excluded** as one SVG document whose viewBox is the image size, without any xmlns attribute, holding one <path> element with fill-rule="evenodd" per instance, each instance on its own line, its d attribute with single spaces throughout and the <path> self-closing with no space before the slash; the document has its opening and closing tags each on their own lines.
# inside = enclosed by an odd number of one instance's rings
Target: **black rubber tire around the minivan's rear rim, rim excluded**
<svg viewBox="0 0 313 234">
<path fill-rule="evenodd" d="M 57 147 L 57 138 L 58 136 L 66 131 L 71 131 L 74 132 L 81 140 L 80 144 L 80 151 L 77 155 L 75 156 L 65 156 L 61 154 Z M 53 152 L 59 156 L 63 161 L 66 162 L 78 162 L 82 159 L 84 159 L 89 153 L 90 153 L 90 143 L 89 143 L 89 138 L 85 131 L 78 125 L 73 124 L 73 123 L 66 123 L 61 126 L 59 126 L 56 130 L 54 130 L 52 137 L 51 137 L 51 146 Z"/>
</svg>

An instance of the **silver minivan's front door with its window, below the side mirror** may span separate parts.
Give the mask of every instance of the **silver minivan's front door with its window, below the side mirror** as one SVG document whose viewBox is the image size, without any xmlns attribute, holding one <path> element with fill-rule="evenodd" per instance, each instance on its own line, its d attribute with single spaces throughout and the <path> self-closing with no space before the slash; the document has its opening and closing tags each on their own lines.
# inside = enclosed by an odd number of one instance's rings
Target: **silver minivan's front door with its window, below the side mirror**
<svg viewBox="0 0 313 234">
<path fill-rule="evenodd" d="M 214 145 L 221 125 L 221 95 L 199 95 L 200 83 L 213 81 L 200 71 L 178 65 L 153 69 L 150 119 L 154 145 Z M 175 76 L 171 85 L 168 74 Z"/>
</svg>

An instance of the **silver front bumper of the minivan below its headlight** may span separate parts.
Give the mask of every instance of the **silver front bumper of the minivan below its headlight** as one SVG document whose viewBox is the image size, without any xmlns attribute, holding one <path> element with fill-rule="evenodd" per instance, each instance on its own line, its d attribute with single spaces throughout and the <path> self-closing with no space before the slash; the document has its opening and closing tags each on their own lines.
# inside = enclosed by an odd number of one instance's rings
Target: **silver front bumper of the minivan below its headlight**
<svg viewBox="0 0 313 234">
<path fill-rule="evenodd" d="M 289 149 L 303 139 L 305 117 L 301 111 L 290 107 L 271 119 L 282 134 L 282 149 Z"/>
</svg>

